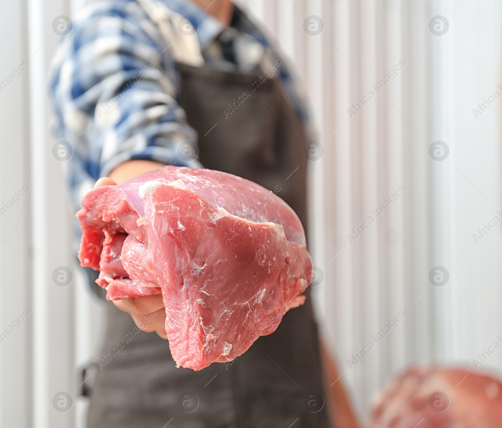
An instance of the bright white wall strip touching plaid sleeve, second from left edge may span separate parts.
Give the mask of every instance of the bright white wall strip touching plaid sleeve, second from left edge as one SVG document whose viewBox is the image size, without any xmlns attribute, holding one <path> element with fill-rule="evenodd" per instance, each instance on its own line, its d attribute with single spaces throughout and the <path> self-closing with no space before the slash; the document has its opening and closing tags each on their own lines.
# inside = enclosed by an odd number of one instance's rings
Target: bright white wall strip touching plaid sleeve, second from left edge
<svg viewBox="0 0 502 428">
<path fill-rule="evenodd" d="M 53 22 L 56 17 L 71 13 L 68 3 L 63 0 L 46 4 L 30 1 L 29 11 L 33 71 L 30 112 L 32 175 L 37 177 L 33 180 L 32 224 L 33 242 L 38 250 L 34 254 L 33 299 L 38 301 L 34 314 L 34 349 L 39 375 L 34 378 L 33 384 L 33 426 L 72 427 L 76 400 L 73 235 L 63 175 L 65 165 L 53 156 L 52 151 L 56 140 L 49 127 L 47 96 L 49 66 L 61 38 L 54 32 Z M 59 24 L 58 20 L 56 25 Z M 73 280 L 66 284 L 60 275 L 67 275 L 67 281 L 71 277 Z M 63 281 L 58 281 L 58 277 Z M 69 394 L 70 398 L 64 397 L 63 393 Z M 64 400 L 67 400 L 66 403 Z"/>
</svg>

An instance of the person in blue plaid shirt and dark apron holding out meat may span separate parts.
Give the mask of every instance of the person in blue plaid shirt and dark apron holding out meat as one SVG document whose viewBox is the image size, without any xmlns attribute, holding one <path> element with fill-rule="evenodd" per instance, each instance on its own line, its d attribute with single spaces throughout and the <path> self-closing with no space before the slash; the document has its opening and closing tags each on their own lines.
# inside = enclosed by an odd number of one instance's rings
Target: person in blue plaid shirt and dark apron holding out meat
<svg viewBox="0 0 502 428">
<path fill-rule="evenodd" d="M 75 208 L 93 186 L 173 165 L 254 181 L 307 224 L 308 111 L 230 0 L 89 2 L 62 37 L 50 93 Z M 109 303 L 87 426 L 357 426 L 305 296 L 274 333 L 200 371 L 176 368 L 162 295 Z"/>
</svg>

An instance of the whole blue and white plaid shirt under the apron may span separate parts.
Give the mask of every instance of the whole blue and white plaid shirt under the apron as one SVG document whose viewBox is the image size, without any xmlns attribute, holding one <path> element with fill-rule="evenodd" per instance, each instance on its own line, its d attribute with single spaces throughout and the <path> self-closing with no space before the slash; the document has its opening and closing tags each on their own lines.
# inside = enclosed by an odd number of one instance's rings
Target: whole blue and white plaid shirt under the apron
<svg viewBox="0 0 502 428">
<path fill-rule="evenodd" d="M 236 73 L 270 70 L 311 134 L 310 121 L 284 60 L 238 8 L 230 27 L 189 0 L 163 0 L 188 16 L 205 66 Z M 75 208 L 94 182 L 122 162 L 148 159 L 200 166 L 180 157 L 197 133 L 177 103 L 179 76 L 167 41 L 136 0 L 90 3 L 63 36 L 54 58 L 50 96 L 53 130 L 73 149 L 68 178 Z M 270 73 L 269 73 L 270 74 Z M 267 75 L 269 77 L 269 75 Z"/>
</svg>

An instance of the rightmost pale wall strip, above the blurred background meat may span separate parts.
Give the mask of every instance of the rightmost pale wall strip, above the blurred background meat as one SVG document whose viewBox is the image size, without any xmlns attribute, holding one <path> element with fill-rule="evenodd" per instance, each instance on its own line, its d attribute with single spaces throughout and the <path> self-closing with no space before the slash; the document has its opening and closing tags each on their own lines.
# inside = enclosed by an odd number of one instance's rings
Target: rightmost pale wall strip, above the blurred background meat
<svg viewBox="0 0 502 428">
<path fill-rule="evenodd" d="M 499 2 L 454 4 L 451 8 L 455 79 L 450 108 L 452 206 L 450 223 L 452 274 L 452 358 L 473 359 L 496 341 L 502 331 L 500 302 L 501 233 L 498 224 L 479 234 L 500 217 L 500 98 L 478 103 L 494 91 L 500 79 Z M 484 42 L 483 42 L 484 41 Z M 501 85 L 502 86 L 502 85 Z M 492 100 L 494 98 L 491 98 Z M 465 125 L 465 126 L 464 126 Z M 491 223 L 493 225 L 493 223 Z M 481 239 L 475 239 L 474 234 Z M 484 236 L 482 236 L 484 235 Z M 479 370 L 502 367 L 502 355 L 488 357 Z M 498 372 L 499 373 L 499 372 Z"/>
</svg>

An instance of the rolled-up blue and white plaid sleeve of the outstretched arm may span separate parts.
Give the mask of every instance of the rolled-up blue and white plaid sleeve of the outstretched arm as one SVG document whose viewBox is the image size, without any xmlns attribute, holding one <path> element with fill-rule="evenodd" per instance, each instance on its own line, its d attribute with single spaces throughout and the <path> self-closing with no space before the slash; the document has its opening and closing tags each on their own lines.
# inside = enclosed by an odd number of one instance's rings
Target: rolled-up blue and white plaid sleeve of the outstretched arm
<svg viewBox="0 0 502 428">
<path fill-rule="evenodd" d="M 177 87 L 168 43 L 139 4 L 96 2 L 55 56 L 53 130 L 92 180 L 132 159 L 200 166 L 183 156 L 197 134 L 176 101 Z"/>
</svg>

